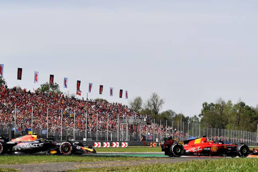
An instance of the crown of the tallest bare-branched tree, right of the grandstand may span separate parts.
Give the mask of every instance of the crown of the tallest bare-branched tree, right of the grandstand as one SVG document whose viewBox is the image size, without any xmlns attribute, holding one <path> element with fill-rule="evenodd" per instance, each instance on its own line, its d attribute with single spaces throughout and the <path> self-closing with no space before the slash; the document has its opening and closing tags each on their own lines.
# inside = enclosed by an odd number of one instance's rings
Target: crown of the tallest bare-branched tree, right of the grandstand
<svg viewBox="0 0 258 172">
<path fill-rule="evenodd" d="M 165 99 L 160 98 L 160 96 L 154 92 L 147 100 L 146 108 L 148 108 L 153 113 L 154 118 L 156 118 L 164 103 Z"/>
</svg>

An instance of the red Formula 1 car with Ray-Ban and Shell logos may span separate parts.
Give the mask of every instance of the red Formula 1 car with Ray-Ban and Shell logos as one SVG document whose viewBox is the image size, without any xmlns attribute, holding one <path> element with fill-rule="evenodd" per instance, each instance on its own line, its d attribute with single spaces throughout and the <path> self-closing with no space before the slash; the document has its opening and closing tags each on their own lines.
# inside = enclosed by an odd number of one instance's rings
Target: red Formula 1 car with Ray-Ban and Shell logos
<svg viewBox="0 0 258 172">
<path fill-rule="evenodd" d="M 211 141 L 203 136 L 191 140 L 177 142 L 174 139 L 161 140 L 161 150 L 170 157 L 186 156 L 217 156 L 217 157 L 247 157 L 257 155 L 257 149 L 249 150 L 246 144 L 226 144 L 221 140 Z"/>
</svg>

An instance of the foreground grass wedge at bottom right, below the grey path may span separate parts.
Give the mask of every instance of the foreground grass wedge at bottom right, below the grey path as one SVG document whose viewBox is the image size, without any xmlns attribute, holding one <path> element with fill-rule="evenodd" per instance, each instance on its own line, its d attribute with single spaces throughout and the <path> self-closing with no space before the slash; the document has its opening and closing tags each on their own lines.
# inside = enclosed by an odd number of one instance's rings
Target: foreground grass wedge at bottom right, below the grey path
<svg viewBox="0 0 258 172">
<path fill-rule="evenodd" d="M 189 161 L 185 163 L 173 164 L 153 164 L 143 166 L 127 166 L 127 167 L 105 167 L 105 168 L 81 168 L 70 170 L 68 172 L 82 171 L 129 171 L 129 172 L 148 172 L 148 171 L 208 171 L 208 172 L 231 172 L 231 171 L 257 171 L 257 158 L 223 158 L 216 160 L 200 160 Z"/>
</svg>

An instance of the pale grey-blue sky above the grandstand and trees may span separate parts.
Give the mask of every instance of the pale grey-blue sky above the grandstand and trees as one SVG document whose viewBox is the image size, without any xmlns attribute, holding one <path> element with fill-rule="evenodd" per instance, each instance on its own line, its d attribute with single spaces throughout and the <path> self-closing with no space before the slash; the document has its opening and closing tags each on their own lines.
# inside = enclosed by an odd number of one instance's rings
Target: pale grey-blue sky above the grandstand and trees
<svg viewBox="0 0 258 172">
<path fill-rule="evenodd" d="M 152 92 L 163 110 L 199 114 L 219 97 L 257 104 L 257 1 L 1 1 L 0 64 L 9 87 L 23 68 L 82 97 L 128 103 Z M 104 85 L 99 95 L 99 85 Z M 114 87 L 114 97 L 109 97 Z M 63 89 L 62 89 L 63 91 Z"/>
</svg>

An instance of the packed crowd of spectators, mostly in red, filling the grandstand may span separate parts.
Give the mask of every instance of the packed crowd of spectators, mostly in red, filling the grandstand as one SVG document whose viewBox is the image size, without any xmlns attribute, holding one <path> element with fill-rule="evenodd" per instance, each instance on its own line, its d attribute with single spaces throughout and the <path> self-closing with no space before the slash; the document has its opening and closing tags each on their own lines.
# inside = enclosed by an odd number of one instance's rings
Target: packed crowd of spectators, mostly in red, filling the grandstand
<svg viewBox="0 0 258 172">
<path fill-rule="evenodd" d="M 65 128 L 73 128 L 75 113 L 75 128 L 79 131 L 86 129 L 86 110 L 88 108 L 88 132 L 98 131 L 107 132 L 107 116 L 109 132 L 117 131 L 117 118 L 142 117 L 146 115 L 138 114 L 127 105 L 118 102 L 108 103 L 106 101 L 97 101 L 96 99 L 80 100 L 70 98 L 67 95 L 55 94 L 46 95 L 31 93 L 26 89 L 18 89 L 13 87 L 8 89 L 3 85 L 0 88 L 0 124 L 14 123 L 16 105 L 16 124 L 18 128 L 31 128 L 31 118 L 33 111 L 33 129 L 40 130 L 47 128 L 47 112 L 48 112 L 48 128 L 50 130 L 60 130 L 61 114 L 62 126 Z M 33 108 L 32 108 L 33 107 Z M 33 109 L 33 110 L 32 110 Z M 48 110 L 48 111 L 47 111 Z M 137 133 L 160 132 L 159 124 L 138 125 Z M 162 125 L 162 131 L 166 132 L 166 128 Z M 136 126 L 129 127 L 129 132 L 136 133 Z M 122 125 L 120 125 L 122 131 Z M 171 132 L 170 127 L 167 132 Z"/>
</svg>

